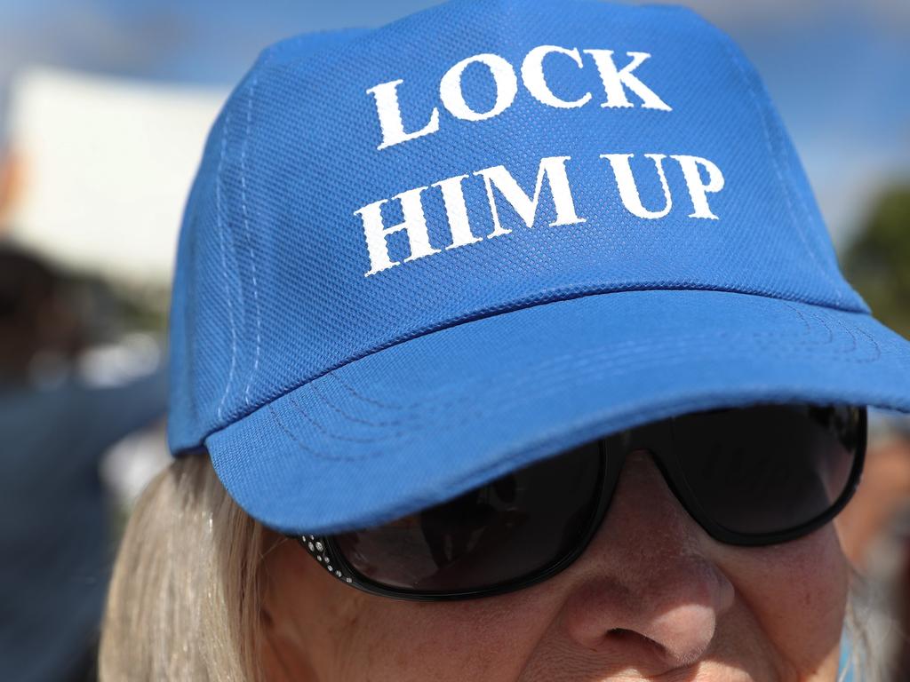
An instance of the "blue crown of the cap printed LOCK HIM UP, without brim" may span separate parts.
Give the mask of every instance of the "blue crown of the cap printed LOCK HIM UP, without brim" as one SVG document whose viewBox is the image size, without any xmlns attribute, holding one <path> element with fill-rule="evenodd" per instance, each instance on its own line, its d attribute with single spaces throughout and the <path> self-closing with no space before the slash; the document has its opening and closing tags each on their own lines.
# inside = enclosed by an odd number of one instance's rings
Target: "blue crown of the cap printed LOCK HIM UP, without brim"
<svg viewBox="0 0 910 682">
<path fill-rule="evenodd" d="M 458 2 L 264 53 L 207 145 L 178 282 L 205 298 L 175 304 L 178 447 L 379 348 L 548 301 L 864 310 L 736 49 L 687 11 L 587 2 Z"/>
</svg>

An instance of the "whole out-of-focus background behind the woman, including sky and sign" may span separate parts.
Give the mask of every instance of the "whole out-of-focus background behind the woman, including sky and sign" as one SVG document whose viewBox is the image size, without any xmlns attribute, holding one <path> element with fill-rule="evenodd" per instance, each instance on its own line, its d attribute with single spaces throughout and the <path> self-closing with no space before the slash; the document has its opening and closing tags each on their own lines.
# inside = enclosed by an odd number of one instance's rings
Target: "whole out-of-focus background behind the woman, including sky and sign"
<svg viewBox="0 0 910 682">
<path fill-rule="evenodd" d="M 229 88 L 280 38 L 434 4 L 0 0 L 0 679 L 94 678 L 118 528 L 168 461 L 177 229 Z M 757 66 L 846 275 L 910 336 L 910 2 L 682 4 Z M 885 678 L 907 679 L 910 422 L 871 418 L 837 527 Z"/>
</svg>

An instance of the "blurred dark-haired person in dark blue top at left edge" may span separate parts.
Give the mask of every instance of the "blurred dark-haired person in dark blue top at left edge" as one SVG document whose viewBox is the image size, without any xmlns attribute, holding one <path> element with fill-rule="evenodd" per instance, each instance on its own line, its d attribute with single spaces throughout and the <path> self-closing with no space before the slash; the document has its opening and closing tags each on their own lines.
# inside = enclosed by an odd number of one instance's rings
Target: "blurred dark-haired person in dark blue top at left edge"
<svg viewBox="0 0 910 682">
<path fill-rule="evenodd" d="M 93 679 L 111 557 L 98 465 L 163 416 L 163 367 L 116 386 L 79 370 L 72 287 L 0 244 L 0 679 Z"/>
</svg>

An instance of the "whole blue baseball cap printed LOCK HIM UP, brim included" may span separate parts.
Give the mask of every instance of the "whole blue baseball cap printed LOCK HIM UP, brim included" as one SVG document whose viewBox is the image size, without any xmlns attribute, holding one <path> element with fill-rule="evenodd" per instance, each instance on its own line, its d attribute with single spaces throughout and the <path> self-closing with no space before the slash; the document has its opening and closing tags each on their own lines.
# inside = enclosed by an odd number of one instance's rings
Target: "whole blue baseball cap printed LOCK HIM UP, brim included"
<svg viewBox="0 0 910 682">
<path fill-rule="evenodd" d="M 696 409 L 910 411 L 758 75 L 678 7 L 457 0 L 269 47 L 172 305 L 173 451 L 287 533 Z"/>
</svg>

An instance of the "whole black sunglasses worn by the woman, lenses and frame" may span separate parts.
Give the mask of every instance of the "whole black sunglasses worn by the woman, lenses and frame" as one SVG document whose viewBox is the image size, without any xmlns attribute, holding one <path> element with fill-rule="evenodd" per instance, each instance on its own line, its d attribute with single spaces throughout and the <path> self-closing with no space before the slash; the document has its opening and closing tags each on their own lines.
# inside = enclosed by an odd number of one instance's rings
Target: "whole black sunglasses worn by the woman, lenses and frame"
<svg viewBox="0 0 910 682">
<path fill-rule="evenodd" d="M 844 508 L 865 440 L 864 407 L 697 412 L 592 441 L 383 526 L 298 539 L 334 577 L 373 595 L 488 597 L 540 583 L 581 556 L 634 450 L 650 451 L 711 537 L 764 546 L 807 535 Z"/>
</svg>

